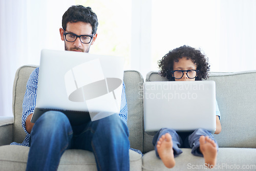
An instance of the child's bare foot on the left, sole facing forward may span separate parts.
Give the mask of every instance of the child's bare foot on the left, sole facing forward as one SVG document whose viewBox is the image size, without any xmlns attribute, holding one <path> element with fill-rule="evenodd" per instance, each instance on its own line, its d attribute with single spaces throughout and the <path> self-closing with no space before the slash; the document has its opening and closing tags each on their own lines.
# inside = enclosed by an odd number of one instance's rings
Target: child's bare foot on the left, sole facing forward
<svg viewBox="0 0 256 171">
<path fill-rule="evenodd" d="M 166 167 L 173 168 L 175 166 L 173 140 L 169 133 L 162 135 L 157 141 L 157 152 Z"/>
</svg>

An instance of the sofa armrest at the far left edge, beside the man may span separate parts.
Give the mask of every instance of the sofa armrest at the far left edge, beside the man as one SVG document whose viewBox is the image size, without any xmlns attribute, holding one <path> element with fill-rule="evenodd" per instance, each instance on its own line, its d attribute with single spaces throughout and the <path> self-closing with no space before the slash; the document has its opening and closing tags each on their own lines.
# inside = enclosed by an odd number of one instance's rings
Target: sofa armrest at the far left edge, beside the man
<svg viewBox="0 0 256 171">
<path fill-rule="evenodd" d="M 0 146 L 12 142 L 13 117 L 0 116 Z"/>
</svg>

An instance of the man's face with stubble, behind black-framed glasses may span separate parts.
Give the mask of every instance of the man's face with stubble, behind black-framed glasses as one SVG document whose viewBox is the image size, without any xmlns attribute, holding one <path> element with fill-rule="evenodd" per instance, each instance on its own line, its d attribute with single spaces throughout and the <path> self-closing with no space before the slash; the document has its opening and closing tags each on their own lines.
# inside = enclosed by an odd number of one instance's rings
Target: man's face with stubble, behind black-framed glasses
<svg viewBox="0 0 256 171">
<path fill-rule="evenodd" d="M 80 41 L 80 38 L 77 37 L 74 42 L 69 42 L 65 39 L 64 33 L 72 33 L 76 35 L 92 35 L 92 26 L 89 23 L 76 22 L 68 23 L 66 31 L 59 29 L 61 40 L 65 41 L 65 50 L 66 51 L 78 51 L 78 52 L 89 52 L 90 46 L 94 44 L 96 40 L 97 33 L 94 34 L 91 42 L 89 44 L 83 44 Z"/>
</svg>

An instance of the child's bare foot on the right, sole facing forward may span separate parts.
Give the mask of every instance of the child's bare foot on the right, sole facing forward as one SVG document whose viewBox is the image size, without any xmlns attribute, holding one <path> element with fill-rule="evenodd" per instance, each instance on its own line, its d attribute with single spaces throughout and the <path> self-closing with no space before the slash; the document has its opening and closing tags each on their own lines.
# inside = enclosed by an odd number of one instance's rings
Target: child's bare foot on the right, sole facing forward
<svg viewBox="0 0 256 171">
<path fill-rule="evenodd" d="M 214 140 L 209 137 L 201 136 L 199 138 L 200 151 L 204 156 L 205 165 L 213 168 L 217 162 L 217 146 Z"/>
</svg>

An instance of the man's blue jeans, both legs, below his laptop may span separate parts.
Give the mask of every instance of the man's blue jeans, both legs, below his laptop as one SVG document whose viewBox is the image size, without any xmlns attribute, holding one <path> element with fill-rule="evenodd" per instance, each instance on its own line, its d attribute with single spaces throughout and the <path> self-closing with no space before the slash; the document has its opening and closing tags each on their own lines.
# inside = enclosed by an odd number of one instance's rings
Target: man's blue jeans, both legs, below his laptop
<svg viewBox="0 0 256 171">
<path fill-rule="evenodd" d="M 57 170 L 66 149 L 93 152 L 98 170 L 129 170 L 128 137 L 118 114 L 73 126 L 65 114 L 49 111 L 31 131 L 27 170 Z"/>
</svg>

